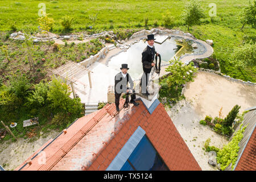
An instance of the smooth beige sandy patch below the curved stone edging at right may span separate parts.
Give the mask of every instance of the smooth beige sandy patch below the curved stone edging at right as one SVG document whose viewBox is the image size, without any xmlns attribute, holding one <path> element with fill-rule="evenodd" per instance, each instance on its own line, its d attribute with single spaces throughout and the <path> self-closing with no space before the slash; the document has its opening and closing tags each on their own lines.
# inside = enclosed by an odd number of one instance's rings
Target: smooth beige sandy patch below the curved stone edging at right
<svg viewBox="0 0 256 182">
<path fill-rule="evenodd" d="M 256 86 L 248 86 L 208 72 L 196 73 L 194 82 L 189 82 L 184 96 L 193 101 L 196 113 L 218 116 L 218 111 L 226 116 L 237 104 L 240 113 L 256 105 Z"/>
</svg>

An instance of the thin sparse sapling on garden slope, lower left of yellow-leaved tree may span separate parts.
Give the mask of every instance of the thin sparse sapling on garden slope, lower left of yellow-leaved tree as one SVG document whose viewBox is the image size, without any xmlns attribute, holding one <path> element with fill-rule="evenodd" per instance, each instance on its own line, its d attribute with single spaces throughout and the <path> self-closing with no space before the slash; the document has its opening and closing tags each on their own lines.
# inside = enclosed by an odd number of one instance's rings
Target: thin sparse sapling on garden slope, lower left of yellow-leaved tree
<svg viewBox="0 0 256 182">
<path fill-rule="evenodd" d="M 24 33 L 24 42 L 22 43 L 22 47 L 24 48 L 24 51 L 27 54 L 27 59 L 28 59 L 28 63 L 30 64 L 30 70 L 33 69 L 33 71 L 35 72 L 35 64 L 34 64 L 34 59 L 32 57 L 32 52 L 35 49 L 35 46 L 33 44 L 33 40 L 31 38 L 31 32 L 32 30 L 29 28 L 24 28 L 23 29 L 23 33 Z"/>
</svg>

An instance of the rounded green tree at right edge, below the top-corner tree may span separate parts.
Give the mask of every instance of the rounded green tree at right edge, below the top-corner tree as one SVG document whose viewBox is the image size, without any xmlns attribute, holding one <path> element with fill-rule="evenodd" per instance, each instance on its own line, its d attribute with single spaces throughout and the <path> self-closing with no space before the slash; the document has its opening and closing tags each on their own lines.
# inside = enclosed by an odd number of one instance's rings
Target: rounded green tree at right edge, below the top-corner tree
<svg viewBox="0 0 256 182">
<path fill-rule="evenodd" d="M 232 62 L 238 69 L 256 65 L 256 43 L 250 41 L 234 49 Z"/>
</svg>

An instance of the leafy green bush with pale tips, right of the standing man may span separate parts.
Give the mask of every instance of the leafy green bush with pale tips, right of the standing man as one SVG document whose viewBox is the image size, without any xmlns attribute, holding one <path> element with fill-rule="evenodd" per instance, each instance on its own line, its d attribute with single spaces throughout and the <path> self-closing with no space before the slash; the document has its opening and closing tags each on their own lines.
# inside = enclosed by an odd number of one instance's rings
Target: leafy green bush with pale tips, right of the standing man
<svg viewBox="0 0 256 182">
<path fill-rule="evenodd" d="M 192 64 L 185 65 L 176 58 L 169 62 L 171 65 L 166 68 L 166 71 L 171 72 L 171 75 L 160 81 L 159 99 L 176 102 L 181 98 L 182 85 L 188 81 L 193 81 L 195 77 L 193 73 L 197 72 L 197 68 L 193 67 Z"/>
</svg>

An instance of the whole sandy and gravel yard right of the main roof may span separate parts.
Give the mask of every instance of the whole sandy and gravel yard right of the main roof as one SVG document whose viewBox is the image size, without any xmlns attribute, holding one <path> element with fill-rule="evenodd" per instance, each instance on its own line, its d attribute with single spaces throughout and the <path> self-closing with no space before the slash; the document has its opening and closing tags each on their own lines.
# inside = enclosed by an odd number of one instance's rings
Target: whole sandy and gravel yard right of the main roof
<svg viewBox="0 0 256 182">
<path fill-rule="evenodd" d="M 202 170 L 217 170 L 208 164 L 209 154 L 203 150 L 204 142 L 210 138 L 210 146 L 222 148 L 228 139 L 215 133 L 209 126 L 200 125 L 205 115 L 218 116 L 221 107 L 224 117 L 236 104 L 240 113 L 256 105 L 255 86 L 247 86 L 226 80 L 213 73 L 196 73 L 194 82 L 184 90 L 185 100 L 178 102 L 167 113 L 189 147 Z"/>
</svg>

